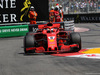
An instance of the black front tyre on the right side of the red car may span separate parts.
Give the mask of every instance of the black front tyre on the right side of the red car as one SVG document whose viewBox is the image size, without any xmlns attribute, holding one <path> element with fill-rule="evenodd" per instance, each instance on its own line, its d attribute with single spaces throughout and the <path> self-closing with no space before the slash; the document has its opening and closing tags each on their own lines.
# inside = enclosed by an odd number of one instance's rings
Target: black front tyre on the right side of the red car
<svg viewBox="0 0 100 75">
<path fill-rule="evenodd" d="M 78 52 L 81 50 L 81 36 L 77 32 L 73 32 L 70 34 L 70 43 L 71 44 L 78 44 L 79 48 L 72 48 L 72 51 Z"/>
</svg>

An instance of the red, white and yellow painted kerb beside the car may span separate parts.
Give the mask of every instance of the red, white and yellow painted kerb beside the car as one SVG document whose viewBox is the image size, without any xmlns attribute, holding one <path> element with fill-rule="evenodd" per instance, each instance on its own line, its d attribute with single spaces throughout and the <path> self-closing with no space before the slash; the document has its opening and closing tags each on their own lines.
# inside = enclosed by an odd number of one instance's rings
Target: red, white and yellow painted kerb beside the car
<svg viewBox="0 0 100 75">
<path fill-rule="evenodd" d="M 79 52 L 60 53 L 60 54 L 52 54 L 52 55 L 53 56 L 61 56 L 61 57 L 100 59 L 100 48 L 88 48 L 88 49 L 82 49 Z"/>
</svg>

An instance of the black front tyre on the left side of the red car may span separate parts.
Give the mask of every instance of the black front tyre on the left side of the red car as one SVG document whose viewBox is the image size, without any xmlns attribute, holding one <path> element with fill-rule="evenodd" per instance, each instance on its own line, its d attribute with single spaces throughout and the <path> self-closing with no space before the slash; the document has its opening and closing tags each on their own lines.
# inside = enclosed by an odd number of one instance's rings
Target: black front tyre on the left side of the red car
<svg viewBox="0 0 100 75">
<path fill-rule="evenodd" d="M 35 51 L 26 51 L 26 48 L 30 48 L 30 47 L 34 47 L 35 46 L 35 39 L 34 39 L 34 36 L 33 35 L 26 35 L 24 37 L 24 52 L 25 54 L 27 53 L 34 53 Z"/>
</svg>

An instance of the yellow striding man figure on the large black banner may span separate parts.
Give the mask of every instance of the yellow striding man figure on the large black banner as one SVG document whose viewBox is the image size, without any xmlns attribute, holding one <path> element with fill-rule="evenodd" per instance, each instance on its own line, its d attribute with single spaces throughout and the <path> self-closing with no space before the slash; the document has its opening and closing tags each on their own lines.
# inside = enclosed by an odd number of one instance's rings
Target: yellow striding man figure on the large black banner
<svg viewBox="0 0 100 75">
<path fill-rule="evenodd" d="M 29 8 L 30 8 L 30 6 L 31 6 L 30 0 L 25 0 L 25 2 L 23 3 L 23 5 L 24 5 L 24 7 L 21 9 L 21 12 L 23 12 L 25 9 L 26 9 L 26 10 L 25 10 L 24 14 L 21 15 L 20 21 L 23 21 L 23 17 L 24 17 L 25 15 L 27 15 L 27 13 L 28 13 L 28 10 L 29 10 Z M 28 17 L 29 17 L 29 15 L 28 15 Z"/>
</svg>

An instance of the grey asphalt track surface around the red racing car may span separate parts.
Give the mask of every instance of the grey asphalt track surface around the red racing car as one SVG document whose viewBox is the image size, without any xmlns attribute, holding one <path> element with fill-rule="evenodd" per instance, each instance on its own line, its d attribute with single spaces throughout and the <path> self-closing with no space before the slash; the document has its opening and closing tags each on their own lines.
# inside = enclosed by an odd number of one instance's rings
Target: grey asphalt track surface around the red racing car
<svg viewBox="0 0 100 75">
<path fill-rule="evenodd" d="M 89 28 L 80 33 L 82 47 L 100 47 L 100 24 L 75 24 Z M 24 55 L 23 37 L 0 38 L 0 75 L 100 75 L 100 60 Z"/>
</svg>

